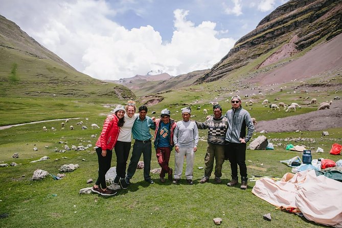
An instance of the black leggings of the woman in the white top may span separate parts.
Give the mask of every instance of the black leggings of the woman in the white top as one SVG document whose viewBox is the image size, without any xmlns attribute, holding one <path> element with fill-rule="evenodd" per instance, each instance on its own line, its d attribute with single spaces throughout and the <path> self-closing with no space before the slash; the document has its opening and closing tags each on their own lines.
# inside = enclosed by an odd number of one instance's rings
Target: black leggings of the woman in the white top
<svg viewBox="0 0 342 228">
<path fill-rule="evenodd" d="M 126 166 L 130 149 L 131 142 L 118 141 L 115 145 L 115 154 L 117 155 L 117 175 L 123 179 L 126 176 Z"/>
</svg>

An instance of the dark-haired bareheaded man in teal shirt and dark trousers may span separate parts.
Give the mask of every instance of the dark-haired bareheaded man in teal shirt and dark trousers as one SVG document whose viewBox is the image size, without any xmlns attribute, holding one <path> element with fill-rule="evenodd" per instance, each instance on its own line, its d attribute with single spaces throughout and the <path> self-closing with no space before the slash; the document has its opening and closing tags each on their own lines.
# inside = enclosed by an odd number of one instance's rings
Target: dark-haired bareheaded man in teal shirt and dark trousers
<svg viewBox="0 0 342 228">
<path fill-rule="evenodd" d="M 153 184 L 151 179 L 151 138 L 150 128 L 155 130 L 155 125 L 151 118 L 146 116 L 147 107 L 142 105 L 139 107 L 139 118 L 137 118 L 132 127 L 132 135 L 135 140 L 133 144 L 132 156 L 128 165 L 126 174 L 126 184 L 130 184 L 130 179 L 133 177 L 136 165 L 138 165 L 141 154 L 144 155 L 144 179 L 147 183 Z"/>
</svg>

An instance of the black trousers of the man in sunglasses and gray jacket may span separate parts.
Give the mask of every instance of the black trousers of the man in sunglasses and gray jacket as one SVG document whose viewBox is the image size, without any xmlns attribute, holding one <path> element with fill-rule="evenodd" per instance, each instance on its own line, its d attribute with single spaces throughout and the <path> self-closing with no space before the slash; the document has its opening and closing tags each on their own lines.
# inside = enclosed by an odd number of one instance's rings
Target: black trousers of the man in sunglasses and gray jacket
<svg viewBox="0 0 342 228">
<path fill-rule="evenodd" d="M 246 144 L 245 143 L 228 143 L 225 142 L 225 149 L 228 153 L 229 162 L 231 163 L 232 177 L 238 176 L 238 165 L 240 175 L 243 180 L 247 179 L 246 167 Z"/>
</svg>

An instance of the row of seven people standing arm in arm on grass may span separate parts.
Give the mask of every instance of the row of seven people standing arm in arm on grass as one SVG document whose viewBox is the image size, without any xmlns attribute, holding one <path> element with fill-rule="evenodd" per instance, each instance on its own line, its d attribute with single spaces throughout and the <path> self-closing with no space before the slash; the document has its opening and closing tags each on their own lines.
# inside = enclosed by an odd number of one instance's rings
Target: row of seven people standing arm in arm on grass
<svg viewBox="0 0 342 228">
<path fill-rule="evenodd" d="M 238 184 L 238 168 L 241 175 L 241 189 L 247 189 L 247 168 L 245 164 L 246 143 L 254 132 L 253 121 L 249 113 L 242 108 L 241 98 L 235 95 L 231 99 L 232 109 L 222 115 L 222 108 L 213 106 L 213 116 L 203 123 L 191 121 L 191 108 L 181 109 L 183 120 L 175 122 L 171 119 L 169 109 L 161 111 L 161 117 L 155 119 L 146 116 L 148 108 L 139 107 L 139 114 L 135 113 L 133 101 L 125 107 L 118 105 L 114 115 L 107 116 L 99 140 L 96 143 L 96 152 L 99 161 L 99 176 L 92 191 L 104 196 L 115 195 L 117 192 L 108 189 L 105 174 L 110 168 L 112 149 L 117 156 L 117 176 L 114 184 L 127 189 L 133 177 L 141 154 L 144 156 L 144 180 L 149 184 L 154 181 L 150 176 L 151 167 L 151 138 L 150 129 L 154 132 L 154 147 L 158 164 L 162 170 L 159 174 L 161 183 L 165 183 L 165 176 L 173 184 L 179 184 L 183 173 L 184 159 L 186 158 L 185 177 L 189 185 L 193 183 L 194 154 L 197 151 L 198 129 L 208 130 L 207 153 L 204 158 L 204 176 L 200 183 L 206 183 L 213 171 L 215 159 L 216 183 L 221 183 L 222 164 L 225 159 L 231 163 L 232 179 L 227 186 Z M 247 131 L 246 131 L 247 128 Z M 134 139 L 132 155 L 127 168 L 126 165 L 131 147 L 131 138 Z M 175 148 L 175 167 L 169 167 L 171 151 Z"/>
</svg>

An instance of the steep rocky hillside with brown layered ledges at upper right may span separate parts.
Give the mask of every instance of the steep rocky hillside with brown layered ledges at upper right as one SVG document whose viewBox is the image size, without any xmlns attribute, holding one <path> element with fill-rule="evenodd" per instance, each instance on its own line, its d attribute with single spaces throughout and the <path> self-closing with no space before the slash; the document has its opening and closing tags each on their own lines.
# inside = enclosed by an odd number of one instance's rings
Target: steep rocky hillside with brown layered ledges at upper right
<svg viewBox="0 0 342 228">
<path fill-rule="evenodd" d="M 264 56 L 253 70 L 293 57 L 342 32 L 342 0 L 292 0 L 260 21 L 195 84 L 216 81 Z"/>
</svg>

